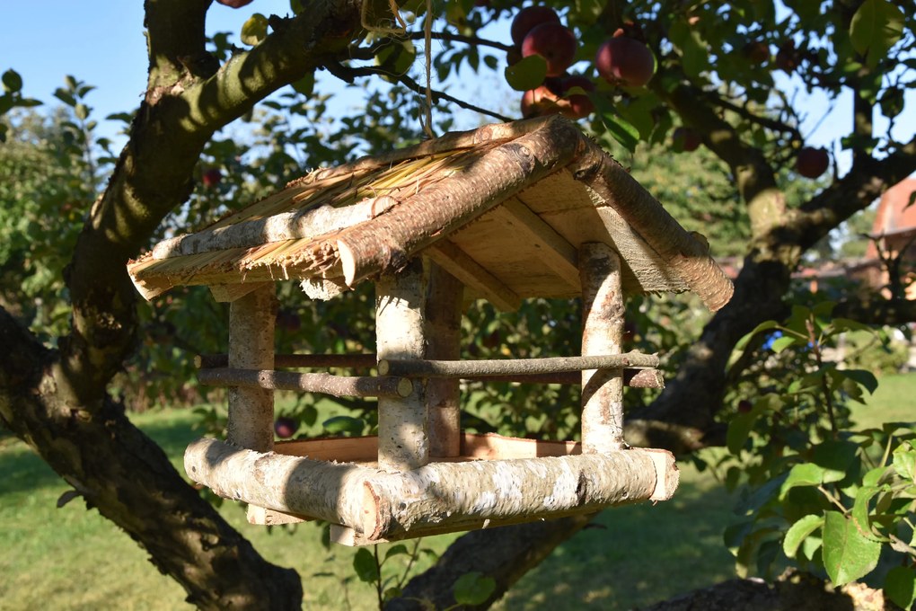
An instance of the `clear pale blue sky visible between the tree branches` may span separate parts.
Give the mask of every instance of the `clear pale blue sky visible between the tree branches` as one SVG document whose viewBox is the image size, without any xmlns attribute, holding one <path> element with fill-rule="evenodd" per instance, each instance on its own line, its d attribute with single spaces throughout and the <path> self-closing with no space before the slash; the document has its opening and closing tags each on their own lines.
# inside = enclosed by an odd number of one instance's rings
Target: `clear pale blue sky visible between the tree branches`
<svg viewBox="0 0 916 611">
<path fill-rule="evenodd" d="M 289 12 L 289 0 L 256 0 L 241 9 L 214 3 L 208 13 L 209 33 L 238 32 L 245 19 L 255 12 L 285 15 Z M 88 104 L 102 124 L 100 131 L 104 136 L 113 136 L 120 127 L 114 123 L 105 125 L 104 116 L 133 110 L 139 104 L 147 66 L 142 0 L 2 0 L 0 23 L 4 24 L 0 36 L 0 71 L 8 68 L 18 71 L 27 96 L 54 104 L 54 89 L 68 74 L 96 86 Z M 464 91 L 451 83 L 451 93 L 496 109 L 505 110 L 505 96 L 515 95 L 507 93 L 507 88 L 499 82 L 474 78 L 464 81 L 468 81 L 463 83 Z M 495 81 L 500 80 L 496 77 Z M 499 99 L 487 104 L 486 99 L 481 102 L 482 97 Z M 799 93 L 799 99 L 809 117 L 807 124 L 802 125 L 802 134 L 811 144 L 833 145 L 838 134 L 848 132 L 851 127 L 848 95 L 841 96 L 834 113 L 825 118 L 826 100 L 806 99 L 803 92 Z M 907 102 L 909 116 L 900 121 L 895 131 L 900 140 L 908 140 L 916 132 L 916 112 L 913 112 L 916 91 L 908 93 Z M 886 125 L 886 121 L 876 117 L 876 125 Z M 845 165 L 842 159 L 841 169 Z"/>
</svg>

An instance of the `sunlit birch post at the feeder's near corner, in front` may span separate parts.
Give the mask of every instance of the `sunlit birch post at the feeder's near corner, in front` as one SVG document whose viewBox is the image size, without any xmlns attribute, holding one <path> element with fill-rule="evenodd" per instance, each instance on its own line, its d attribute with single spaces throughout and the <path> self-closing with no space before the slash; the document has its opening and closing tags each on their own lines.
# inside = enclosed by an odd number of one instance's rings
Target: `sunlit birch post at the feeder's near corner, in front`
<svg viewBox="0 0 916 611">
<path fill-rule="evenodd" d="M 427 284 L 418 257 L 376 283 L 376 352 L 386 358 L 424 358 Z M 426 380 L 409 397 L 378 398 L 378 468 L 409 471 L 430 462 Z"/>
</svg>

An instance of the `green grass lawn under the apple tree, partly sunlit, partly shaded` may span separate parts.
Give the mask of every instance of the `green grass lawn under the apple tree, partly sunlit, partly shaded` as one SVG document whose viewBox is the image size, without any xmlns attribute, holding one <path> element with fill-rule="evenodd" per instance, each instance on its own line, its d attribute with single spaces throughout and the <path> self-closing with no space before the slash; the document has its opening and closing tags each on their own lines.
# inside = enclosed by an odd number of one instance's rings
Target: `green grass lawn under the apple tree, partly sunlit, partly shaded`
<svg viewBox="0 0 916 611">
<path fill-rule="evenodd" d="M 884 376 L 875 397 L 856 409 L 860 426 L 916 420 L 916 376 Z M 185 444 L 199 436 L 190 411 L 133 417 L 180 466 Z M 0 437 L 0 609 L 182 609 L 178 584 L 159 574 L 134 541 L 80 499 L 57 508 L 68 486 L 25 444 Z M 531 571 L 499 609 L 627 609 L 713 584 L 733 574 L 722 529 L 732 500 L 711 475 L 682 467 L 682 484 L 668 502 L 608 509 Z M 250 526 L 244 510 L 221 508 L 267 560 L 302 575 L 304 608 L 371 609 L 375 594 L 354 579 L 354 550 L 325 550 L 321 530 Z M 442 551 L 453 535 L 422 540 Z M 382 550 L 384 553 L 384 549 Z M 392 562 L 404 559 L 398 556 Z M 423 556 L 420 568 L 429 565 Z M 392 564 L 391 569 L 398 568 Z"/>
</svg>

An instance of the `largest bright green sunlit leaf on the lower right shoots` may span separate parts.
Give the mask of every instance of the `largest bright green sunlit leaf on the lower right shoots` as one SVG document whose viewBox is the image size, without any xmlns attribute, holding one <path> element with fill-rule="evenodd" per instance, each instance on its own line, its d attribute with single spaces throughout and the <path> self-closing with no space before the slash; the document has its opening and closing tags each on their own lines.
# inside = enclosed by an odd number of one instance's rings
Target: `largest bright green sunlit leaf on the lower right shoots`
<svg viewBox="0 0 916 611">
<path fill-rule="evenodd" d="M 864 577 L 878 565 L 881 544 L 868 540 L 851 518 L 838 511 L 823 516 L 823 568 L 834 586 Z"/>
</svg>

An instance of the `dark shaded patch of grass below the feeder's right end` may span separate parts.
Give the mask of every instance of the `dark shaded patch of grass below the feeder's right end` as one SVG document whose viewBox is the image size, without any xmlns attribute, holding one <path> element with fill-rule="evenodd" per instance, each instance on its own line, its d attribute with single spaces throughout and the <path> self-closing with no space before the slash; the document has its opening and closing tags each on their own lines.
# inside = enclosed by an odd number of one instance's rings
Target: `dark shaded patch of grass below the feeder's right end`
<svg viewBox="0 0 916 611">
<path fill-rule="evenodd" d="M 734 577 L 722 542 L 733 500 L 692 475 L 654 507 L 606 509 L 522 578 L 500 609 L 630 609 Z"/>
</svg>

